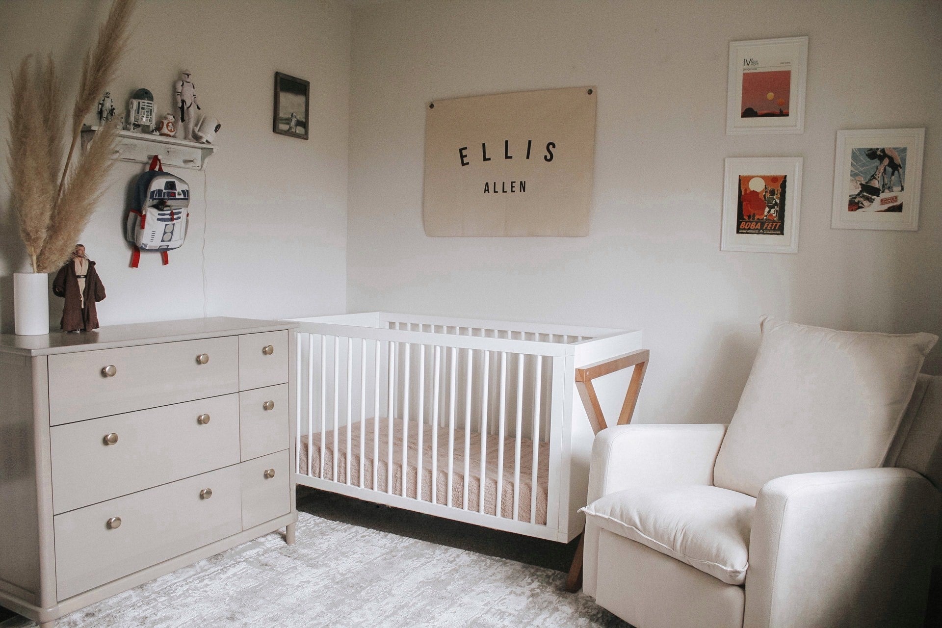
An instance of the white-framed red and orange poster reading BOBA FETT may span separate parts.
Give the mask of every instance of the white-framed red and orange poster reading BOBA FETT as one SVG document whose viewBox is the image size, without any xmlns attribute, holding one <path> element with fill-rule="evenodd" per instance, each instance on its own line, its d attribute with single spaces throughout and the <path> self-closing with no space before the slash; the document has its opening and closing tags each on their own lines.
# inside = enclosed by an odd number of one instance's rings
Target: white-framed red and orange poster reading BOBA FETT
<svg viewBox="0 0 942 628">
<path fill-rule="evenodd" d="M 801 157 L 729 157 L 721 250 L 797 253 Z"/>
</svg>

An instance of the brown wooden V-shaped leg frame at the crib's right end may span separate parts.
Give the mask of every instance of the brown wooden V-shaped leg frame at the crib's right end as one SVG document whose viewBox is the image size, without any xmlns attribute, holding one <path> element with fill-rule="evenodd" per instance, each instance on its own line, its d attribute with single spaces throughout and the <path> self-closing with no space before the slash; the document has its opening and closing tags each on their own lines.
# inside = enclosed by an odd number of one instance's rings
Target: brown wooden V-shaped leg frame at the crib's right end
<svg viewBox="0 0 942 628">
<path fill-rule="evenodd" d="M 602 407 L 598 403 L 598 395 L 595 393 L 593 379 L 605 377 L 634 367 L 631 374 L 631 381 L 628 383 L 628 390 L 625 393 L 625 402 L 622 404 L 622 411 L 618 414 L 618 421 L 615 425 L 626 426 L 631 423 L 631 417 L 635 413 L 635 406 L 638 405 L 638 395 L 642 390 L 644 381 L 644 372 L 647 371 L 649 351 L 640 349 L 625 353 L 613 360 L 605 362 L 596 362 L 584 368 L 576 369 L 576 388 L 579 396 L 582 398 L 582 405 L 585 406 L 586 414 L 589 416 L 589 423 L 592 425 L 593 432 L 598 434 L 601 430 L 609 427 L 609 422 L 602 413 Z M 575 593 L 582 588 L 582 552 L 585 543 L 585 534 L 579 536 L 579 544 L 576 548 L 576 556 L 573 557 L 573 564 L 569 568 L 569 575 L 566 576 L 566 590 Z"/>
</svg>

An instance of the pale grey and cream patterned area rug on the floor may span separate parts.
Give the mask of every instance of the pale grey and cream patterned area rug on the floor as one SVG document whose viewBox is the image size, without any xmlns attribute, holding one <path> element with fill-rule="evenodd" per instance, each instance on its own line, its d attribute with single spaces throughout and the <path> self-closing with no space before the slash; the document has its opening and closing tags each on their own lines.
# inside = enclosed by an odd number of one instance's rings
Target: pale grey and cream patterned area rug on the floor
<svg viewBox="0 0 942 628">
<path fill-rule="evenodd" d="M 57 628 L 606 626 L 565 575 L 300 512 L 269 534 L 57 620 Z M 20 617 L 0 628 L 35 626 Z"/>
</svg>

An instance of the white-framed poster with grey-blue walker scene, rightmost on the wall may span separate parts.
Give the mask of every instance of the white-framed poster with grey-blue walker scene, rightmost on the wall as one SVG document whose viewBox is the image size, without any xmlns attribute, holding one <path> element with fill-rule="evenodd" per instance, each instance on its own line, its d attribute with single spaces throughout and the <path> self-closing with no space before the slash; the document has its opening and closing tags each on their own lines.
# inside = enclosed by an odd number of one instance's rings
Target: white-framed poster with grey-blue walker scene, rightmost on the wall
<svg viewBox="0 0 942 628">
<path fill-rule="evenodd" d="M 832 229 L 919 228 L 925 129 L 838 131 Z"/>
</svg>

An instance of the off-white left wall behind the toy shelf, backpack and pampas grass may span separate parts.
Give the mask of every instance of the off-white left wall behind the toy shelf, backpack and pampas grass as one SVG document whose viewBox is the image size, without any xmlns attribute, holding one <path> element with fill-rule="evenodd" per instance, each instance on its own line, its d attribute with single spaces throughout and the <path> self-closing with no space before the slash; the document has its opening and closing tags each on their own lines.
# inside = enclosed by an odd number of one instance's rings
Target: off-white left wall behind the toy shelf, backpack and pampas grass
<svg viewBox="0 0 942 628">
<path fill-rule="evenodd" d="M 9 71 L 26 54 L 52 52 L 71 111 L 81 56 L 109 5 L 0 2 L 0 171 L 7 172 Z M 187 242 L 171 252 L 170 266 L 160 266 L 154 253 L 144 253 L 138 269 L 128 266 L 126 194 L 145 166 L 116 163 L 82 236 L 106 286 L 98 308 L 103 325 L 204 312 L 287 317 L 344 309 L 349 20 L 349 8 L 332 0 L 140 2 L 132 50 L 111 86 L 116 105 L 146 87 L 160 114 L 171 111 L 173 81 L 188 68 L 203 112 L 222 128 L 219 150 L 203 171 L 171 169 L 189 183 L 192 201 Z M 276 71 L 311 81 L 308 141 L 271 132 Z M 0 226 L 0 322 L 11 332 L 11 274 L 27 263 L 6 181 Z M 53 301 L 60 311 L 60 300 Z"/>
</svg>

